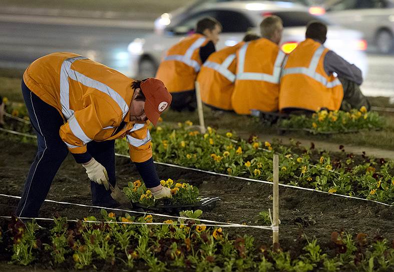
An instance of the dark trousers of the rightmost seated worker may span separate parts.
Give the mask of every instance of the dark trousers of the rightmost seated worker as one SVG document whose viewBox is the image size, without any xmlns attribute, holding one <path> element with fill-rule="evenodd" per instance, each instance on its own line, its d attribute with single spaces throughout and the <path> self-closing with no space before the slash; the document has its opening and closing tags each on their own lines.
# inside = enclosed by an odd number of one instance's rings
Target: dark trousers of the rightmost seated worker
<svg viewBox="0 0 394 272">
<path fill-rule="evenodd" d="M 367 110 L 370 109 L 368 99 L 362 94 L 360 86 L 355 82 L 338 77 L 343 87 L 343 99 L 340 105 L 341 110 L 349 111 L 351 108 L 360 109 L 361 106 L 365 106 Z"/>
</svg>

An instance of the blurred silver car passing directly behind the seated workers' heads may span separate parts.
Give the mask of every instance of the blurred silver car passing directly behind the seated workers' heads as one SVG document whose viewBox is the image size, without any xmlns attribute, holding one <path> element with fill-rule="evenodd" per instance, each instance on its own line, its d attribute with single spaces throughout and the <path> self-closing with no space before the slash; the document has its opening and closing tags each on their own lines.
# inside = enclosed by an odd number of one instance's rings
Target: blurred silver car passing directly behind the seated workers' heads
<svg viewBox="0 0 394 272">
<path fill-rule="evenodd" d="M 331 25 L 323 17 L 316 17 L 302 5 L 288 2 L 231 1 L 214 5 L 190 13 L 178 23 L 170 23 L 162 33 L 150 33 L 137 38 L 128 46 L 129 71 L 131 77 L 154 76 L 161 58 L 167 49 L 183 37 L 192 33 L 198 20 L 206 16 L 216 18 L 223 26 L 216 49 L 232 46 L 241 41 L 245 32 L 259 33 L 259 25 L 264 16 L 277 15 L 283 20 L 283 36 L 280 46 L 290 52 L 298 42 L 305 39 L 305 26 L 310 20 L 319 19 L 329 25 L 325 45 L 357 65 L 366 74 L 367 61 L 365 41 L 359 31 Z"/>
</svg>

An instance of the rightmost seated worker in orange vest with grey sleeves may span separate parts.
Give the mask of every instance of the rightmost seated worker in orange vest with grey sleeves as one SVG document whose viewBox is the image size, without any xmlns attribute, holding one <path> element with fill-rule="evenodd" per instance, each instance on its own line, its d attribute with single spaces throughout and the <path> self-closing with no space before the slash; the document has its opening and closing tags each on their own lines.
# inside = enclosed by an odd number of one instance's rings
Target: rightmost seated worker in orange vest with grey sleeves
<svg viewBox="0 0 394 272">
<path fill-rule="evenodd" d="M 323 46 L 326 34 L 324 23 L 308 23 L 306 39 L 283 61 L 279 92 L 281 111 L 349 110 L 347 103 L 353 108 L 365 106 L 369 109 L 369 102 L 359 88 L 361 70 Z"/>
</svg>

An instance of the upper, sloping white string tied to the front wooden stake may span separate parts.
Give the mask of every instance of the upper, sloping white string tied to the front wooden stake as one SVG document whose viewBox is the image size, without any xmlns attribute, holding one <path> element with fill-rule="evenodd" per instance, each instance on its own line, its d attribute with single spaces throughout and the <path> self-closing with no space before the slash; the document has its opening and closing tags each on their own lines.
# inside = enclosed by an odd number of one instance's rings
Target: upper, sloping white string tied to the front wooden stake
<svg viewBox="0 0 394 272">
<path fill-rule="evenodd" d="M 21 196 L 8 195 L 8 194 L 3 194 L 3 193 L 0 193 L 0 196 L 13 197 L 13 198 L 21 199 Z M 76 205 L 76 206 L 82 206 L 82 207 L 103 208 L 103 209 L 106 209 L 106 210 L 110 209 L 110 210 L 127 211 L 127 212 L 131 212 L 131 213 L 152 214 L 152 215 L 162 216 L 162 217 L 172 217 L 172 218 L 180 218 L 180 219 L 187 219 L 187 220 L 191 219 L 189 217 L 183 217 L 183 216 L 175 216 L 175 215 L 168 215 L 168 214 L 162 214 L 162 213 L 153 213 L 153 212 L 145 212 L 145 211 L 137 211 L 137 210 L 128 210 L 128 209 L 121 209 L 121 208 L 109 208 L 109 207 L 102 207 L 102 206 L 85 205 L 85 204 L 78 204 L 78 203 L 55 201 L 55 200 L 51 200 L 51 199 L 45 199 L 44 201 L 46 201 L 46 202 L 53 202 L 53 203 L 59 203 L 59 204 Z M 231 225 L 231 226 L 239 226 L 239 227 L 241 227 L 241 226 L 244 227 L 245 226 L 243 224 L 238 224 L 238 223 L 227 223 L 227 222 L 220 222 L 220 221 L 214 221 L 214 220 L 208 220 L 208 219 L 196 219 L 196 220 L 203 221 L 203 222 L 209 222 L 209 223 L 216 223 L 216 224 L 226 224 L 226 225 Z M 267 226 L 262 226 L 262 225 L 246 225 L 246 226 L 254 227 L 254 228 L 266 228 L 267 227 Z M 272 228 L 269 228 L 269 229 L 272 229 Z"/>
</svg>

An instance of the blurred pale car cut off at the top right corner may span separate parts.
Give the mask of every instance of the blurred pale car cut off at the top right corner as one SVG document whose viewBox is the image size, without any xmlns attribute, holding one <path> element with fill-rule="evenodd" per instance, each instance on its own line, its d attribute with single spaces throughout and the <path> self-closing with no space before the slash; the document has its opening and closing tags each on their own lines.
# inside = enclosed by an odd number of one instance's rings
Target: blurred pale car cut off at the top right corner
<svg viewBox="0 0 394 272">
<path fill-rule="evenodd" d="M 334 0 L 325 8 L 328 18 L 361 31 L 380 53 L 394 50 L 394 0 Z"/>
</svg>

